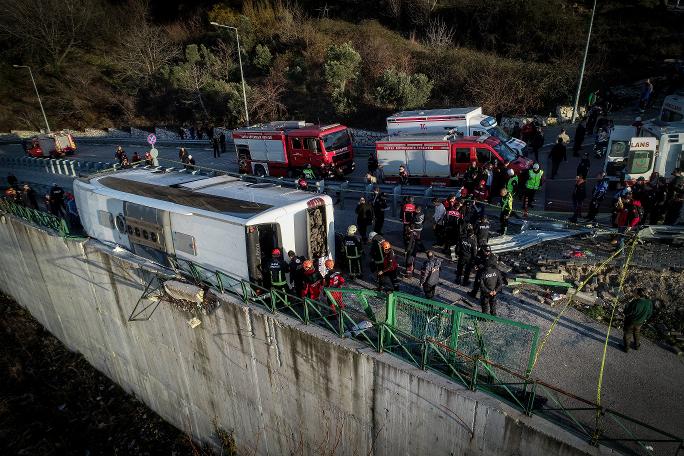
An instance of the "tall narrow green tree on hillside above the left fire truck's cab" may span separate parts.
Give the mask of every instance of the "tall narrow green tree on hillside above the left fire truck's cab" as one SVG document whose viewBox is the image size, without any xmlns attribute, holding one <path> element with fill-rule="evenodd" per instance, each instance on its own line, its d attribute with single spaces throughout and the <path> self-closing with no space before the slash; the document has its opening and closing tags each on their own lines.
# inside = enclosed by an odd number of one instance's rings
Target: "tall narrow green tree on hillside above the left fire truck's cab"
<svg viewBox="0 0 684 456">
<path fill-rule="evenodd" d="M 358 77 L 360 64 L 361 56 L 349 42 L 333 44 L 326 50 L 323 73 L 331 101 L 340 114 L 352 109 L 347 84 Z"/>
</svg>

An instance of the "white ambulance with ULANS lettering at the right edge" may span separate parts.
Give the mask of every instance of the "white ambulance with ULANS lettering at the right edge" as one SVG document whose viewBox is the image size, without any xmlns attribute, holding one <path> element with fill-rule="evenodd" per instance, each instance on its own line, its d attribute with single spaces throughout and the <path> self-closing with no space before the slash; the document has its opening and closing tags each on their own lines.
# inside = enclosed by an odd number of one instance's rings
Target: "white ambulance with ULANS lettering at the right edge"
<svg viewBox="0 0 684 456">
<path fill-rule="evenodd" d="M 676 168 L 684 167 L 684 122 L 659 123 L 647 122 L 641 136 L 627 140 L 628 128 L 620 137 L 614 138 L 615 131 L 611 134 L 604 171 L 612 182 L 631 184 L 639 177 L 649 179 L 652 173 L 669 177 Z"/>
</svg>

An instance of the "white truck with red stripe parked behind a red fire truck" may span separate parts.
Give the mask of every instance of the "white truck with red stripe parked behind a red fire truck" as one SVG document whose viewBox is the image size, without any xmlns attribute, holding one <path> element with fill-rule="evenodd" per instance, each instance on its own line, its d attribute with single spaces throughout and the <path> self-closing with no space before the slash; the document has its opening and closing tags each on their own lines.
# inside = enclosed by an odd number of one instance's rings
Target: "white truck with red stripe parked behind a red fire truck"
<svg viewBox="0 0 684 456">
<path fill-rule="evenodd" d="M 522 154 L 525 142 L 511 137 L 481 107 L 402 111 L 387 118 L 387 134 L 414 135 L 456 133 L 461 136 L 489 135 Z"/>
</svg>

